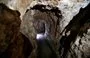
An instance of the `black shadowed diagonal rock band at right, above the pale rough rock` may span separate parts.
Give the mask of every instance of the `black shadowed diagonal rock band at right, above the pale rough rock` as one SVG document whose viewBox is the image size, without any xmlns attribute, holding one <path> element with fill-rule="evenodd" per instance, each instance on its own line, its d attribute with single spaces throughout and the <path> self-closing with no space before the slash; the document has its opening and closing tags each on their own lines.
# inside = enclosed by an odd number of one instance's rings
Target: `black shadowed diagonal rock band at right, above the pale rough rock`
<svg viewBox="0 0 90 58">
<path fill-rule="evenodd" d="M 61 58 L 67 58 L 67 53 L 71 48 L 71 43 L 74 43 L 77 36 L 83 37 L 87 34 L 87 30 L 90 28 L 90 3 L 85 7 L 81 8 L 79 13 L 73 17 L 69 24 L 65 27 L 60 40 L 60 55 Z M 69 35 L 67 33 L 70 32 Z M 61 34 L 62 34 L 61 33 Z"/>
</svg>

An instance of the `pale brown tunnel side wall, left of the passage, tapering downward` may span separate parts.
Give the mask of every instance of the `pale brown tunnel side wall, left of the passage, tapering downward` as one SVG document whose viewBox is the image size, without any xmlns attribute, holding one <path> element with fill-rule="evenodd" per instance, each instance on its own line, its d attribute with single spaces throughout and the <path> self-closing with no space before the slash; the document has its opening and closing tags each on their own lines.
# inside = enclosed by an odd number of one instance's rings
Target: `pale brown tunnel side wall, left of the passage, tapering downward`
<svg viewBox="0 0 90 58">
<path fill-rule="evenodd" d="M 31 41 L 31 44 L 33 46 L 33 51 L 31 53 L 31 56 L 29 58 L 36 58 L 36 49 L 37 49 L 37 44 L 36 44 L 36 31 L 33 26 L 33 13 L 31 11 L 27 11 L 22 19 L 21 23 L 21 32 L 29 38 Z"/>
</svg>

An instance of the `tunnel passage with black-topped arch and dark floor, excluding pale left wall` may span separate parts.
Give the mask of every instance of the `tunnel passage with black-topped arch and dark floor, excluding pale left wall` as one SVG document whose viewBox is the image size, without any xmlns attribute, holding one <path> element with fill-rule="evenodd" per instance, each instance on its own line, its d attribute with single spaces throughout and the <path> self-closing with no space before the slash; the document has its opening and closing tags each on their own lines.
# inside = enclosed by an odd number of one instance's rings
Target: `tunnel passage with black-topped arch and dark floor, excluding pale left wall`
<svg viewBox="0 0 90 58">
<path fill-rule="evenodd" d="M 58 7 L 42 4 L 33 6 L 31 10 L 35 11 L 33 24 L 37 33 L 37 58 L 58 58 L 56 43 L 60 35 L 61 11 Z"/>
</svg>

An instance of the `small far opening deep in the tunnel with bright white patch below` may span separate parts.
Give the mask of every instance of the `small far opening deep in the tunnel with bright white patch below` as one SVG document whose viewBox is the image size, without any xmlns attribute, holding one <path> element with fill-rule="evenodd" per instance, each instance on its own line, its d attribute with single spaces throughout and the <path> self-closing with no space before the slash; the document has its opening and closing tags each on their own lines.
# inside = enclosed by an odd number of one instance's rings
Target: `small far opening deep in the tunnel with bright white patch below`
<svg viewBox="0 0 90 58">
<path fill-rule="evenodd" d="M 36 39 L 44 39 L 46 37 L 45 23 L 42 20 L 37 20 L 34 22 L 34 27 L 37 32 Z"/>
</svg>

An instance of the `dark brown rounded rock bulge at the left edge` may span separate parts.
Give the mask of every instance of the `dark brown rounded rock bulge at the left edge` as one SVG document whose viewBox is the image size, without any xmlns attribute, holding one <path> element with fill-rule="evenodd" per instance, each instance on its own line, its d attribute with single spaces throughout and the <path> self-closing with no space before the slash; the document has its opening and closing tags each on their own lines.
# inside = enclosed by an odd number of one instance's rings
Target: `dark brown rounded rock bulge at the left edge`
<svg viewBox="0 0 90 58">
<path fill-rule="evenodd" d="M 10 15 L 10 16 L 8 16 L 8 15 Z M 18 30 L 20 28 L 19 25 L 20 25 L 20 22 L 21 22 L 19 16 L 20 16 L 19 12 L 10 10 L 5 5 L 0 4 L 0 26 L 1 26 L 1 28 L 0 28 L 1 42 L 0 43 L 5 44 L 5 45 L 0 44 L 0 46 L 3 47 L 3 48 L 1 48 L 1 50 L 5 49 L 8 46 L 8 45 L 6 45 L 5 41 L 7 41 L 7 43 L 9 43 L 8 41 L 11 40 L 10 39 L 11 37 L 13 37 L 13 39 L 14 39 L 14 36 L 16 36 L 16 34 L 14 34 L 14 32 L 17 32 L 17 34 L 18 34 Z M 14 20 L 16 20 L 16 21 L 14 22 Z M 8 28 L 8 27 L 10 27 L 10 28 Z M 16 30 L 13 29 L 15 27 L 17 27 Z M 9 32 L 10 30 L 12 30 L 12 31 Z"/>
</svg>

